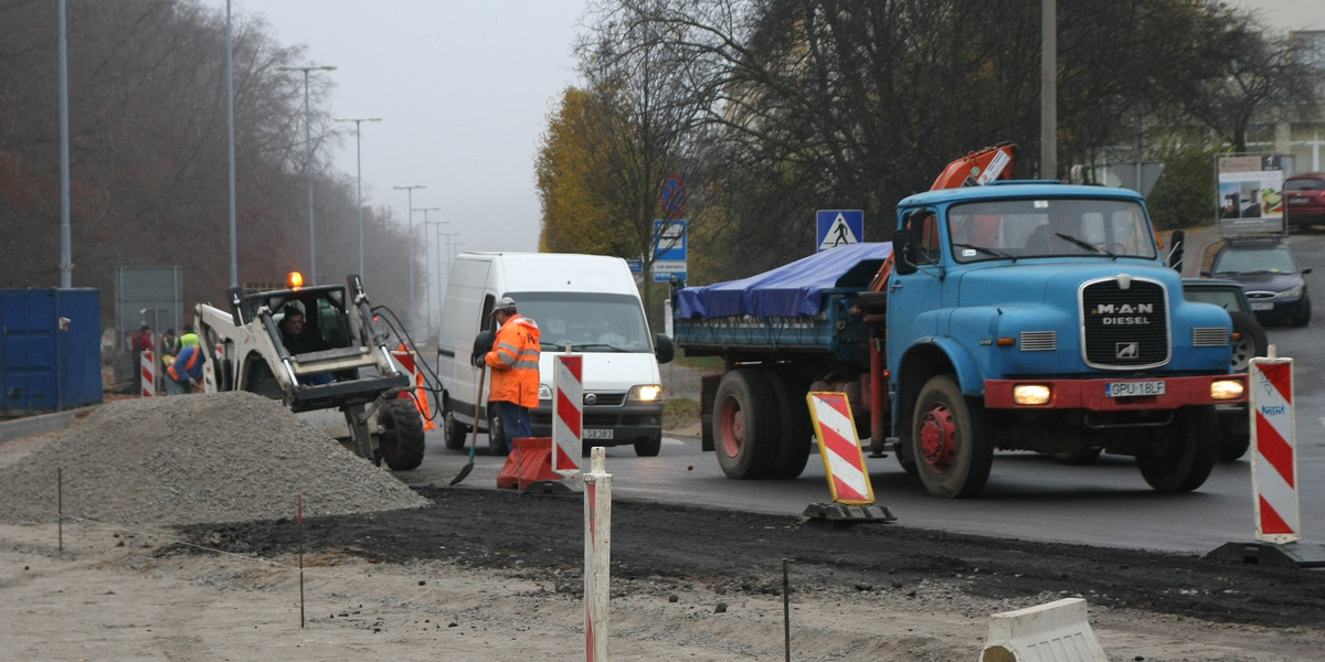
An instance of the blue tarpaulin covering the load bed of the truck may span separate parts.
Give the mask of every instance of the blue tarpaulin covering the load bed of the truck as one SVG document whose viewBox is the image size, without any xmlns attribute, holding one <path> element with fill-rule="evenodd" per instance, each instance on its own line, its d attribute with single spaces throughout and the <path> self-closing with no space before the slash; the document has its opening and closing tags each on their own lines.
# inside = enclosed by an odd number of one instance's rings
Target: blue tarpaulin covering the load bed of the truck
<svg viewBox="0 0 1325 662">
<path fill-rule="evenodd" d="M 685 287 L 677 298 L 677 314 L 682 319 L 814 316 L 824 290 L 864 289 L 892 252 L 892 242 L 849 244 L 739 281 Z"/>
</svg>

